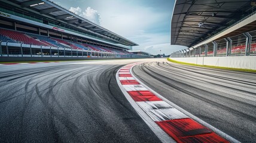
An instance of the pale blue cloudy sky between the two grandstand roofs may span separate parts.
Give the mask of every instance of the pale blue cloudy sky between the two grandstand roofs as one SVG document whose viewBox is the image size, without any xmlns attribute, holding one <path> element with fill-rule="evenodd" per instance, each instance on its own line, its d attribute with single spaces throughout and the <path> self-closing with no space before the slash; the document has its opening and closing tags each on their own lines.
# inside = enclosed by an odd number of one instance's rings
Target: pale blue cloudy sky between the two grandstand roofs
<svg viewBox="0 0 256 143">
<path fill-rule="evenodd" d="M 175 0 L 52 1 L 138 43 L 139 46 L 133 46 L 133 50 L 169 55 L 178 49 L 187 48 L 170 45 L 170 21 Z"/>
</svg>

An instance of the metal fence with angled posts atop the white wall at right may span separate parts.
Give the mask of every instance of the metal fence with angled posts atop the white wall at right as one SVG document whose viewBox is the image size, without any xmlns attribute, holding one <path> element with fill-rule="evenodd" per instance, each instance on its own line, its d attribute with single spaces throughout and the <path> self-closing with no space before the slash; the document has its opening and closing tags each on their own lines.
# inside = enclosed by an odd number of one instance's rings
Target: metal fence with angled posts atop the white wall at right
<svg viewBox="0 0 256 143">
<path fill-rule="evenodd" d="M 212 41 L 193 49 L 182 49 L 170 57 L 225 57 L 256 55 L 256 30 Z"/>
</svg>

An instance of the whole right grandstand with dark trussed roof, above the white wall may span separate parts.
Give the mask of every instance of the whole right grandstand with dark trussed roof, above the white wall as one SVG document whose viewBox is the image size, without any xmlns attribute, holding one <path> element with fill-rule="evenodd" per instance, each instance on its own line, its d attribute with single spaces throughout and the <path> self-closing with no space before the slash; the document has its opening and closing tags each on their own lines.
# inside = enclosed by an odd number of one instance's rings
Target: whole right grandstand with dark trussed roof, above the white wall
<svg viewBox="0 0 256 143">
<path fill-rule="evenodd" d="M 171 45 L 188 49 L 170 57 L 256 55 L 256 2 L 176 1 Z"/>
</svg>

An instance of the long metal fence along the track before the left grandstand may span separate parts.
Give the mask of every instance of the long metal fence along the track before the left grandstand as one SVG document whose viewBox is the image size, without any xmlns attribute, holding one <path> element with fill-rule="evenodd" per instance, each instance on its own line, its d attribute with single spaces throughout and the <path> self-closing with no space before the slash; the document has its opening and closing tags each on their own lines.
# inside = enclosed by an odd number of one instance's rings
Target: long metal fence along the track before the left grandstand
<svg viewBox="0 0 256 143">
<path fill-rule="evenodd" d="M 125 54 L 124 52 L 93 51 L 54 46 L 38 46 L 24 43 L 0 41 L 0 57 L 102 57 L 102 58 L 148 58 L 147 55 Z"/>
</svg>

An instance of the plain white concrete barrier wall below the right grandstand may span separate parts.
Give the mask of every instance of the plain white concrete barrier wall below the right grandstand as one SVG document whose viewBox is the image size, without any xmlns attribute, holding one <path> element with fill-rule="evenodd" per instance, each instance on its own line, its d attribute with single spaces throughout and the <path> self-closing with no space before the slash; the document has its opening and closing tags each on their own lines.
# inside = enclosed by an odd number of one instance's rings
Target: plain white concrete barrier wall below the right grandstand
<svg viewBox="0 0 256 143">
<path fill-rule="evenodd" d="M 256 56 L 171 58 L 191 64 L 256 70 Z"/>
</svg>

